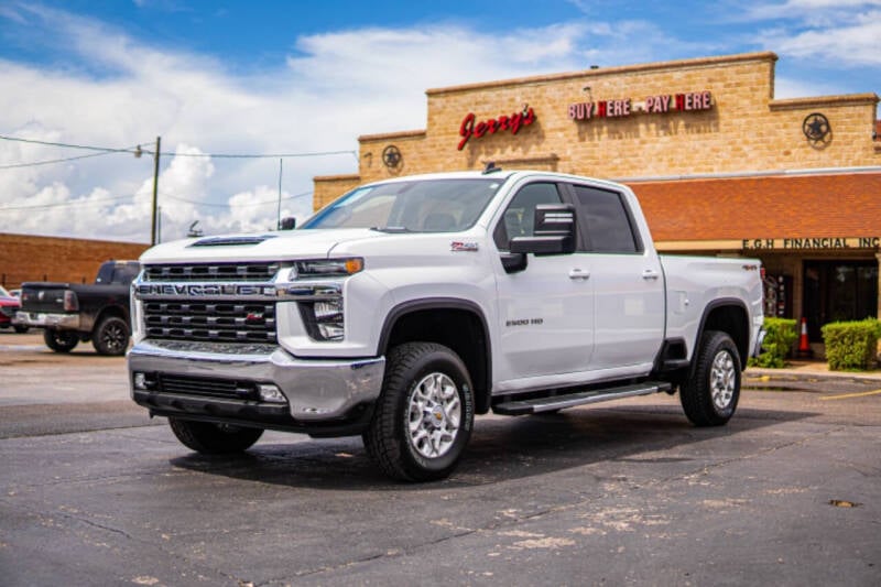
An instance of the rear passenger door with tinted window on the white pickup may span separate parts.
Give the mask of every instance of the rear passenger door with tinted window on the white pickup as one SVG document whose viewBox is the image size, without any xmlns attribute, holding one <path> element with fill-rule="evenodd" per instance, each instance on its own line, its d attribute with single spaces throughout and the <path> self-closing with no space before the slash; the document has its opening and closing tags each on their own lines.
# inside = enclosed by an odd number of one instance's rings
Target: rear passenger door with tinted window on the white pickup
<svg viewBox="0 0 881 587">
<path fill-rule="evenodd" d="M 622 194 L 589 185 L 570 187 L 579 250 L 590 259 L 596 296 L 590 370 L 642 374 L 651 370 L 664 337 L 661 261 L 643 244 Z"/>
</svg>

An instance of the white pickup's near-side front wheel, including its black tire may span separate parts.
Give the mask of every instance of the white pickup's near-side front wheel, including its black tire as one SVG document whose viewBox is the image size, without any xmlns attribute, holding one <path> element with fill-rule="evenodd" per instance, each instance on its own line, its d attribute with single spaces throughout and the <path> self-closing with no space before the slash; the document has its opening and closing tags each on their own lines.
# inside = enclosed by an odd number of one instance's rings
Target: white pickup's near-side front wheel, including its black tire
<svg viewBox="0 0 881 587">
<path fill-rule="evenodd" d="M 471 436 L 472 389 L 468 369 L 449 348 L 434 343 L 395 347 L 362 435 L 368 454 L 385 475 L 401 481 L 449 476 Z"/>
</svg>

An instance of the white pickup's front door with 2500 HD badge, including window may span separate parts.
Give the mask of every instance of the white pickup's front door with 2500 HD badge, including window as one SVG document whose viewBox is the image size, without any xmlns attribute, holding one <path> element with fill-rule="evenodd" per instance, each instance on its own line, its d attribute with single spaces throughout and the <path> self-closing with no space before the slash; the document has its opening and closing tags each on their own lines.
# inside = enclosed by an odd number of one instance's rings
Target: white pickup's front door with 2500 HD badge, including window
<svg viewBox="0 0 881 587">
<path fill-rule="evenodd" d="M 493 239 L 508 251 L 510 239 L 532 236 L 535 206 L 559 204 L 557 184 L 522 186 L 498 221 Z M 493 379 L 505 380 L 583 372 L 594 346 L 592 283 L 583 264 L 585 253 L 527 257 L 522 271 L 497 264 L 500 336 Z M 537 382 L 536 382 L 537 383 Z"/>
</svg>

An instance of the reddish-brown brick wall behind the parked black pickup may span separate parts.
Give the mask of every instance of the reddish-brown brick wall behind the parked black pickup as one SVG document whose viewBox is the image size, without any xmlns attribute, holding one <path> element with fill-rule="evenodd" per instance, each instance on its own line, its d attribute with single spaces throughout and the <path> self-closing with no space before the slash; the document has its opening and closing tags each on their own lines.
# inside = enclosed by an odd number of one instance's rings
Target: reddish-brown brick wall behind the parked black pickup
<svg viewBox="0 0 881 587">
<path fill-rule="evenodd" d="M 108 259 L 138 259 L 149 244 L 0 233 L 0 284 L 24 281 L 91 283 Z"/>
</svg>

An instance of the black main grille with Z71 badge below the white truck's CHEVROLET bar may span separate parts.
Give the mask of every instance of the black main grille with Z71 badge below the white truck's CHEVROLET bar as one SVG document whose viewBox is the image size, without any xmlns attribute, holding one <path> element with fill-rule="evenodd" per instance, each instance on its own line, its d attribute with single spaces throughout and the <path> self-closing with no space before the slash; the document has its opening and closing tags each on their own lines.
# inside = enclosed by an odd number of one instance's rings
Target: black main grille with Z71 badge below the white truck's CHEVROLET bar
<svg viewBox="0 0 881 587">
<path fill-rule="evenodd" d="M 216 343 L 275 343 L 274 303 L 145 302 L 148 338 Z"/>
</svg>

